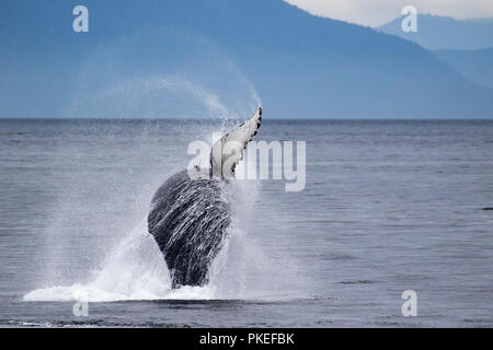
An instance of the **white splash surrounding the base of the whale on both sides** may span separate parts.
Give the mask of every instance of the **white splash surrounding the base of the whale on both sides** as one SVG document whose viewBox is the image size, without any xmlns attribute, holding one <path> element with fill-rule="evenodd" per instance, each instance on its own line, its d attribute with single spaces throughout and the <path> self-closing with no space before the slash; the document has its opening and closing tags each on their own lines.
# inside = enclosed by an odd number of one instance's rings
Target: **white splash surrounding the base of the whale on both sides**
<svg viewBox="0 0 493 350">
<path fill-rule="evenodd" d="M 87 282 L 37 289 L 24 301 L 111 302 L 125 300 L 285 300 L 299 298 L 290 290 L 294 276 L 276 270 L 248 232 L 254 223 L 257 182 L 231 180 L 223 186 L 230 203 L 231 225 L 220 253 L 211 262 L 205 287 L 171 288 L 163 256 L 148 233 L 147 220 L 123 237 L 108 253 L 102 268 Z M 286 287 L 279 287 L 279 272 Z M 287 284 L 286 284 L 287 283 Z M 294 294 L 295 293 L 295 294 Z"/>
</svg>

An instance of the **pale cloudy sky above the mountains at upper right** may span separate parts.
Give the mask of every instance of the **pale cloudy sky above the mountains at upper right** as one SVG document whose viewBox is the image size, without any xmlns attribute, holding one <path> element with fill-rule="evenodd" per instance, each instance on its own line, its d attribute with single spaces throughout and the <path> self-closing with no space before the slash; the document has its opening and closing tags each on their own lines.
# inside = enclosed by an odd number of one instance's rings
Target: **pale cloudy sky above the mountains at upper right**
<svg viewBox="0 0 493 350">
<path fill-rule="evenodd" d="M 493 0 L 286 0 L 310 13 L 369 26 L 385 24 L 411 4 L 420 13 L 456 19 L 493 16 Z"/>
</svg>

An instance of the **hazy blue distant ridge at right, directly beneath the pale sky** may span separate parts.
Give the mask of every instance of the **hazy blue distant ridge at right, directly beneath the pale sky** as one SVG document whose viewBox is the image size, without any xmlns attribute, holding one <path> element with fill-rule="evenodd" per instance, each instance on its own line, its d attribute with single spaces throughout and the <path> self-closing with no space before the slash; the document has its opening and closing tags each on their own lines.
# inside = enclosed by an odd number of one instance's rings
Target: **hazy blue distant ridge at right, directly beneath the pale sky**
<svg viewBox="0 0 493 350">
<path fill-rule="evenodd" d="M 456 20 L 447 16 L 419 14 L 417 32 L 404 33 L 398 18 L 378 27 L 421 46 L 437 49 L 480 49 L 493 47 L 493 19 Z"/>
</svg>

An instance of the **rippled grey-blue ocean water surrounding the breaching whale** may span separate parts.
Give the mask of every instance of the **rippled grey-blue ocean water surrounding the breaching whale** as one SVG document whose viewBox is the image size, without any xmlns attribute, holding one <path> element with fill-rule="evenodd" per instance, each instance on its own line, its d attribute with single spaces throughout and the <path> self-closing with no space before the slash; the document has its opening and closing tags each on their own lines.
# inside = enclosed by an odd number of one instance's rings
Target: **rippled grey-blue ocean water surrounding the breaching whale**
<svg viewBox="0 0 493 350">
<path fill-rule="evenodd" d="M 232 121 L 0 120 L 0 326 L 493 326 L 493 121 L 264 119 L 305 190 L 229 184 L 210 282 L 175 291 L 150 199 Z"/>
</svg>

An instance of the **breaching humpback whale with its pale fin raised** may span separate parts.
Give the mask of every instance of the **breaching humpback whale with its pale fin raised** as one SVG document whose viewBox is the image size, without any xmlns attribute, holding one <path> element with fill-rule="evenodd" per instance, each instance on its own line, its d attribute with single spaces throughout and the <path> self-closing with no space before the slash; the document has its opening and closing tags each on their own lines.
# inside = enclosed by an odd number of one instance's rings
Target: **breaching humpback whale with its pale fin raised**
<svg viewBox="0 0 493 350">
<path fill-rule="evenodd" d="M 213 144 L 207 176 L 181 171 L 159 187 L 148 215 L 148 230 L 154 237 L 168 269 L 172 288 L 205 285 L 210 262 L 223 246 L 231 223 L 230 206 L 222 194 L 243 150 L 256 135 L 262 108 Z M 198 170 L 198 167 L 196 167 Z"/>
</svg>

